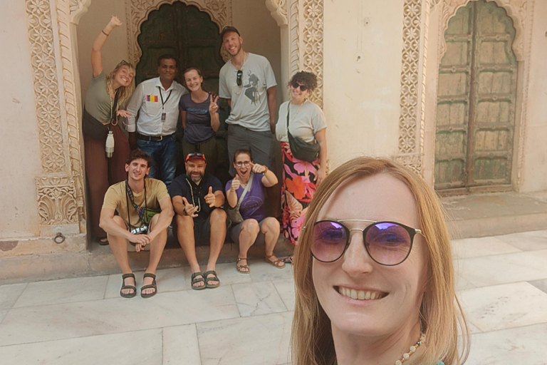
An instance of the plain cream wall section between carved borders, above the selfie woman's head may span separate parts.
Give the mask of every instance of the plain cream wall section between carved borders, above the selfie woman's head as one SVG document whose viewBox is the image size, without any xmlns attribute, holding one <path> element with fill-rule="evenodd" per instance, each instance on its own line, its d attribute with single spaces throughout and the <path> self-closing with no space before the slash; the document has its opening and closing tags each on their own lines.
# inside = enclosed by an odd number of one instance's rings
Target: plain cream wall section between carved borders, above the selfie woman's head
<svg viewBox="0 0 547 365">
<path fill-rule="evenodd" d="M 397 153 L 402 0 L 325 1 L 324 97 L 330 168 Z"/>
</svg>

